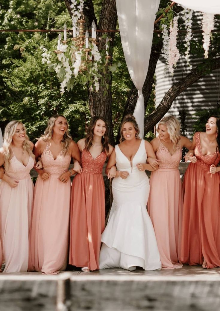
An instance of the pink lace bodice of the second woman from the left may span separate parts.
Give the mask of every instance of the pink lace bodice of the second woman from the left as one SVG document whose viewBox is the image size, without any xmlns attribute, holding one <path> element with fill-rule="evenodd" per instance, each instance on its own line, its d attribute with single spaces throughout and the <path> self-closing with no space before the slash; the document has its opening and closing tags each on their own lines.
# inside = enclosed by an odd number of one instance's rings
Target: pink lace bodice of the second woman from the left
<svg viewBox="0 0 220 311">
<path fill-rule="evenodd" d="M 43 163 L 43 169 L 50 174 L 62 174 L 66 172 L 70 166 L 71 157 L 69 153 L 64 155 L 64 150 L 61 150 L 60 154 L 54 160 L 52 152 L 50 151 L 50 143 L 47 145 L 41 155 Z"/>
</svg>

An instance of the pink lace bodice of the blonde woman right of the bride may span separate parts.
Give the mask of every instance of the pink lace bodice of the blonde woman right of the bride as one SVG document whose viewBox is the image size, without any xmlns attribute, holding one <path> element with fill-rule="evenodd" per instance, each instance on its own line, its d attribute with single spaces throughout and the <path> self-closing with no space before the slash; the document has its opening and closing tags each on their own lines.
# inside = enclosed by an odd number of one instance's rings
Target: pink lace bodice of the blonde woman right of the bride
<svg viewBox="0 0 220 311">
<path fill-rule="evenodd" d="M 159 148 L 156 151 L 156 157 L 158 160 L 160 160 L 159 169 L 178 168 L 180 160 L 182 158 L 182 150 L 178 143 L 176 151 L 173 153 L 173 155 L 171 155 L 167 147 L 165 147 L 163 143 L 159 140 Z"/>
</svg>

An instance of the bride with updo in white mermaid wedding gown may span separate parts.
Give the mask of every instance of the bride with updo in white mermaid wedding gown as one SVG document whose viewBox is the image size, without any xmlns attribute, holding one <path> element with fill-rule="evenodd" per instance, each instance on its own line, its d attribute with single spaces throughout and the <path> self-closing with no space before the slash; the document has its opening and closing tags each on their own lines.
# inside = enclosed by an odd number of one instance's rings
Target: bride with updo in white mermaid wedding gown
<svg viewBox="0 0 220 311">
<path fill-rule="evenodd" d="M 117 171 L 112 182 L 114 201 L 101 236 L 100 269 L 160 269 L 154 228 L 146 210 L 150 185 L 145 170 L 155 170 L 146 160 L 155 158 L 155 154 L 150 143 L 139 138 L 132 115 L 123 119 L 120 133 L 120 144 L 115 146 L 106 167 L 110 178 L 114 165 Z"/>
</svg>

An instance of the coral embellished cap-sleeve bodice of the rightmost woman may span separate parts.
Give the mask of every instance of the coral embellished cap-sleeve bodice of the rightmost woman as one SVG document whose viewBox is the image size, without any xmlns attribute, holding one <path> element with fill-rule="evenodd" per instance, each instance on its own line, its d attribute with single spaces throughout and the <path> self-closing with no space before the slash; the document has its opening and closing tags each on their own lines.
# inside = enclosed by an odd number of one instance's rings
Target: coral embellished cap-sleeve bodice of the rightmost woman
<svg viewBox="0 0 220 311">
<path fill-rule="evenodd" d="M 206 155 L 204 156 L 202 154 L 201 150 L 201 143 L 200 143 L 200 132 L 196 132 L 195 135 L 195 156 L 197 158 L 197 164 L 209 169 L 210 165 L 214 164 L 217 165 L 220 161 L 220 154 L 218 153 L 213 153 L 211 155 Z"/>
</svg>

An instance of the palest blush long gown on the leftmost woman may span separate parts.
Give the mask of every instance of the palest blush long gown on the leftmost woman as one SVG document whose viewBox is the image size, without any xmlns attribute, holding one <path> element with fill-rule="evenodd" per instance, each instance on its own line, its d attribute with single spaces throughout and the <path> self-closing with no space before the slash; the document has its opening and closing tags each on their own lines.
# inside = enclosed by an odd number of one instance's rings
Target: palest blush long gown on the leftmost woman
<svg viewBox="0 0 220 311">
<path fill-rule="evenodd" d="M 26 272 L 28 269 L 28 234 L 34 191 L 29 173 L 33 166 L 31 156 L 24 166 L 13 155 L 5 174 L 19 180 L 19 183 L 16 188 L 11 188 L 4 180 L 0 183 L 0 235 L 2 257 L 5 259 L 4 272 Z"/>
</svg>

